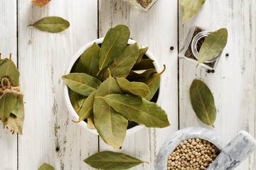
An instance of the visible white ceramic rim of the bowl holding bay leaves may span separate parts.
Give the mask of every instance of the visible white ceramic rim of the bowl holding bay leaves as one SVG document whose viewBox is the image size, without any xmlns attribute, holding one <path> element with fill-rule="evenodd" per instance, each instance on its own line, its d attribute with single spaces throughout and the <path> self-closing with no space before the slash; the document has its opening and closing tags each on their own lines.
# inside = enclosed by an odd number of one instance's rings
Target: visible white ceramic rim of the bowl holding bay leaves
<svg viewBox="0 0 256 170">
<path fill-rule="evenodd" d="M 82 55 L 82 53 L 90 46 L 92 46 L 92 44 L 94 42 L 96 42 L 97 44 L 101 44 L 102 41 L 103 41 L 104 38 L 99 38 L 97 40 L 93 40 L 89 43 L 87 43 L 85 46 L 83 46 L 82 48 L 80 48 L 80 50 L 78 50 L 78 52 L 75 53 L 75 55 L 73 56 L 73 58 L 70 60 L 69 64 L 68 64 L 68 67 L 67 69 L 65 70 L 65 75 L 66 74 L 70 74 L 70 71 L 73 67 L 73 65 L 75 64 L 75 62 L 78 60 L 78 58 Z M 133 44 L 134 40 L 129 40 L 128 41 L 128 44 Z M 151 52 L 147 51 L 146 52 L 146 56 L 149 57 L 151 60 L 154 60 L 154 64 L 155 64 L 155 67 L 156 67 L 156 72 L 161 72 L 162 68 L 160 67 L 159 63 L 156 61 L 156 58 L 154 57 L 154 55 L 151 54 Z M 161 80 L 162 81 L 162 80 Z M 157 98 L 157 101 L 156 103 L 159 105 L 161 103 L 161 85 L 162 83 L 160 83 L 160 88 L 159 88 L 159 96 Z M 73 116 L 73 120 L 79 120 L 79 116 L 78 116 L 78 113 L 75 112 L 71 102 L 70 102 L 70 98 L 69 98 L 69 94 L 68 94 L 68 86 L 64 83 L 64 100 L 65 100 L 65 104 L 66 106 L 68 107 L 68 111 L 70 112 L 70 114 Z M 87 130 L 89 130 L 90 132 L 96 134 L 96 135 L 99 135 L 97 133 L 97 130 L 94 130 L 94 129 L 90 129 L 90 128 L 87 128 L 87 123 L 85 123 L 85 121 L 81 121 L 79 123 L 79 125 L 82 126 L 82 128 L 85 128 Z M 131 135 L 139 130 L 141 130 L 142 128 L 144 128 L 144 125 L 137 125 L 137 126 L 134 126 L 133 128 L 130 128 L 127 130 L 127 135 Z"/>
</svg>

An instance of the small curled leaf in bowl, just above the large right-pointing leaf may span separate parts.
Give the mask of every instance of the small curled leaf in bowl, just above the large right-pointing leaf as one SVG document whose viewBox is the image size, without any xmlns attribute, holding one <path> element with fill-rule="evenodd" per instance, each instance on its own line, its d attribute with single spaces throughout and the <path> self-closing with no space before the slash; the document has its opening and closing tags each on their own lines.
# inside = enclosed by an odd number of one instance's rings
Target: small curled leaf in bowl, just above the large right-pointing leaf
<svg viewBox="0 0 256 170">
<path fill-rule="evenodd" d="M 132 94 L 142 98 L 149 96 L 149 87 L 141 82 L 129 82 L 127 79 L 117 77 L 117 83 L 124 94 Z"/>
</svg>

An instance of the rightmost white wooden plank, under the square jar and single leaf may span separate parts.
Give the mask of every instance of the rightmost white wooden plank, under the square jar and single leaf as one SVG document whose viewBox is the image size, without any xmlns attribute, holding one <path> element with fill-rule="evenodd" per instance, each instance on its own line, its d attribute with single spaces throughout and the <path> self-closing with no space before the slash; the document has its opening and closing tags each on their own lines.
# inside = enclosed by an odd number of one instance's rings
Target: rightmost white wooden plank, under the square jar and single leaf
<svg viewBox="0 0 256 170">
<path fill-rule="evenodd" d="M 255 1 L 206 1 L 201 11 L 183 26 L 179 13 L 179 40 L 183 44 L 189 28 L 201 25 L 210 30 L 227 28 L 228 44 L 215 73 L 196 68 L 186 60 L 180 60 L 180 125 L 203 125 L 193 113 L 189 99 L 189 86 L 193 79 L 201 79 L 208 84 L 215 97 L 218 109 L 215 130 L 228 142 L 239 130 L 246 130 L 256 136 L 256 2 Z M 229 53 L 229 57 L 225 54 Z M 240 164 L 238 170 L 256 169 L 256 154 Z"/>
</svg>

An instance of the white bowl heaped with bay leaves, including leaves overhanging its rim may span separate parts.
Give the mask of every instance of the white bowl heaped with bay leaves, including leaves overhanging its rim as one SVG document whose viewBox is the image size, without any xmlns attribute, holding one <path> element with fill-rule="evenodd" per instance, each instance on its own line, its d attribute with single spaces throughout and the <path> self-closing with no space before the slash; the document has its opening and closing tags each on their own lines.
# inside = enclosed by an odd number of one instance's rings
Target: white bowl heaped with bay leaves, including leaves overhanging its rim
<svg viewBox="0 0 256 170">
<path fill-rule="evenodd" d="M 64 97 L 74 122 L 119 149 L 126 135 L 170 125 L 156 103 L 161 70 L 148 47 L 129 39 L 127 26 L 82 47 L 68 64 Z M 165 69 L 165 66 L 164 66 Z"/>
</svg>

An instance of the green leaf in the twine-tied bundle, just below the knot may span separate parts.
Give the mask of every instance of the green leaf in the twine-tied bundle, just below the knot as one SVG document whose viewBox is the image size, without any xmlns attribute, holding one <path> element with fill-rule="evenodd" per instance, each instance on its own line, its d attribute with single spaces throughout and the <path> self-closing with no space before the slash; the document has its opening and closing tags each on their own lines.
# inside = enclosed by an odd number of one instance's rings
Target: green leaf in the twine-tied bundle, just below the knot
<svg viewBox="0 0 256 170">
<path fill-rule="evenodd" d="M 6 118 L 9 117 L 11 111 L 14 110 L 16 106 L 17 95 L 12 93 L 4 94 L 2 98 L 0 98 L 0 119 L 4 122 Z"/>
</svg>

